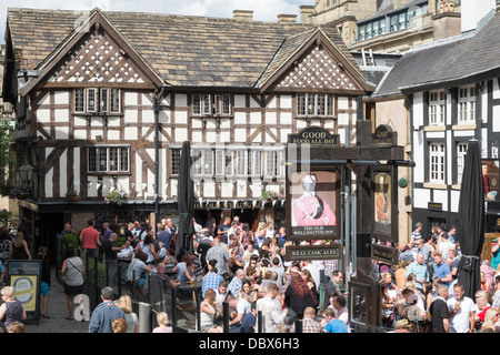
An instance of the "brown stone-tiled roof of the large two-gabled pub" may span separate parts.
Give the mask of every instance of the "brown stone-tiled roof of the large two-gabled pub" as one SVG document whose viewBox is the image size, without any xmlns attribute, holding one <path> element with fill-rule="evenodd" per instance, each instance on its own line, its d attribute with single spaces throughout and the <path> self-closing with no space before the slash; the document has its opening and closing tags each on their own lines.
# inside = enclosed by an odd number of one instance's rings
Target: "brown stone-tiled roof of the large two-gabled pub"
<svg viewBox="0 0 500 355">
<path fill-rule="evenodd" d="M 122 39 L 127 53 L 171 87 L 258 89 L 288 54 L 317 27 L 297 23 L 243 22 L 233 19 L 93 10 L 108 30 Z M 44 70 L 79 36 L 76 23 L 88 12 L 9 9 L 8 28 L 20 70 Z M 78 26 L 77 26 L 78 28 Z M 356 61 L 333 30 L 324 36 Z M 341 43 L 341 44 L 340 44 Z M 362 74 L 360 73 L 360 77 Z M 260 81 L 261 82 L 261 81 Z"/>
</svg>

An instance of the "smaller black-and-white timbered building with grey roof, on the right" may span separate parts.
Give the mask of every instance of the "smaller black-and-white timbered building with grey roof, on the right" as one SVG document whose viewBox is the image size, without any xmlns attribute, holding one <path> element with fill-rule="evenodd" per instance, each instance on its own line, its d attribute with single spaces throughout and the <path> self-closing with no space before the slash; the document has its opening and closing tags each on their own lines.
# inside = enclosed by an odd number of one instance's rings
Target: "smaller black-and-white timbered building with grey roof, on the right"
<svg viewBox="0 0 500 355">
<path fill-rule="evenodd" d="M 461 36 L 409 51 L 382 80 L 376 95 L 404 94 L 410 118 L 412 220 L 458 224 L 467 145 L 478 140 L 489 170 L 489 230 L 498 230 L 500 142 L 500 14 L 492 10 Z M 460 233 L 460 232 L 459 232 Z"/>
</svg>

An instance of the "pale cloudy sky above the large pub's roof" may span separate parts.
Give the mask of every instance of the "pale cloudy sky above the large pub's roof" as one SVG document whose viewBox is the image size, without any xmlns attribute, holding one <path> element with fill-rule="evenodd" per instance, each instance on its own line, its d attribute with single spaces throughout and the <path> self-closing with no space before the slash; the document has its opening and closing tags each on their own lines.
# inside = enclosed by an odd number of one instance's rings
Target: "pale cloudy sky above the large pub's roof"
<svg viewBox="0 0 500 355">
<path fill-rule="evenodd" d="M 232 18 L 233 10 L 253 10 L 253 20 L 276 22 L 280 13 L 297 14 L 314 0 L 0 0 L 0 43 L 4 43 L 8 8 L 50 10 L 137 11 Z"/>
</svg>

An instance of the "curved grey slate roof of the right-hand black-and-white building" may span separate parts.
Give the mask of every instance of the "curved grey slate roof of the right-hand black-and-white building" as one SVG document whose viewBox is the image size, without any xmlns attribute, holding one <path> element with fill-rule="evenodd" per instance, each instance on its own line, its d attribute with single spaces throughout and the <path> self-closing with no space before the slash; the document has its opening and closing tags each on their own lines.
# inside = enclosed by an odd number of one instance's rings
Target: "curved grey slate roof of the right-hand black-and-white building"
<svg viewBox="0 0 500 355">
<path fill-rule="evenodd" d="M 382 80 L 374 97 L 479 82 L 500 72 L 499 33 L 500 13 L 496 13 L 476 33 L 410 50 Z"/>
</svg>

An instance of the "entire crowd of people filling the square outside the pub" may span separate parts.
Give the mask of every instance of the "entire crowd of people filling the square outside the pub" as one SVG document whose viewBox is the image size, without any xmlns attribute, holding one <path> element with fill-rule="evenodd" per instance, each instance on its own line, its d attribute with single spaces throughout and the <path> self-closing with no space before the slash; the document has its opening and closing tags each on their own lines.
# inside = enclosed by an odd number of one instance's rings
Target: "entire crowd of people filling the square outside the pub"
<svg viewBox="0 0 500 355">
<path fill-rule="evenodd" d="M 287 242 L 286 229 L 274 229 L 272 222 L 260 222 L 256 231 L 251 231 L 238 216 L 226 217 L 220 225 L 209 216 L 204 225 L 193 219 L 193 251 L 178 260 L 174 252 L 177 229 L 170 219 L 160 221 L 156 230 L 148 223 L 130 223 L 126 242 L 120 246 L 109 225 L 99 233 L 94 221 L 89 221 L 79 241 L 84 255 L 96 257 L 102 248 L 107 270 L 111 270 L 110 287 L 102 290 L 102 303 L 92 312 L 89 332 L 139 332 L 130 296 L 113 301 L 112 286 L 117 282 L 134 282 L 144 291 L 148 277 L 154 274 L 172 287 L 201 282 L 201 332 L 223 332 L 224 302 L 230 310 L 230 333 L 254 333 L 259 328 L 263 333 L 351 332 L 346 275 L 337 268 L 336 260 L 286 261 L 286 248 L 292 243 Z M 68 229 L 69 225 L 64 227 Z M 14 245 L 16 239 L 21 242 Z M 18 232 L 16 239 L 10 240 L 11 246 L 0 242 L 0 262 L 12 257 L 14 248 L 23 248 L 22 232 Z M 423 235 L 422 224 L 417 223 L 409 243 L 399 246 L 397 265 L 373 261 L 373 274 L 380 286 L 381 326 L 398 333 L 500 332 L 499 246 L 497 240 L 492 244 L 491 261 L 482 261 L 481 286 L 471 298 L 464 295 L 464 287 L 458 282 L 462 255 L 457 229 L 446 231 L 441 226 Z M 46 254 L 47 250 L 41 247 L 37 257 L 46 260 Z M 31 258 L 31 255 L 27 253 L 23 257 Z M 130 257 L 130 263 L 119 275 L 114 263 L 121 257 Z M 43 264 L 50 268 L 47 261 Z M 67 248 L 61 278 L 68 295 L 68 320 L 72 320 L 74 297 L 82 293 L 86 278 L 84 263 L 72 247 Z M 47 318 L 49 287 L 50 272 L 48 278 L 42 277 L 46 296 L 41 314 Z M 22 304 L 19 307 L 10 288 L 2 288 L 2 331 L 26 318 Z M 104 306 L 108 311 L 100 312 Z M 113 312 L 109 312 L 110 308 Z M 259 312 L 261 324 L 258 324 Z M 157 322 L 153 333 L 173 332 L 166 313 L 159 313 Z"/>
</svg>

